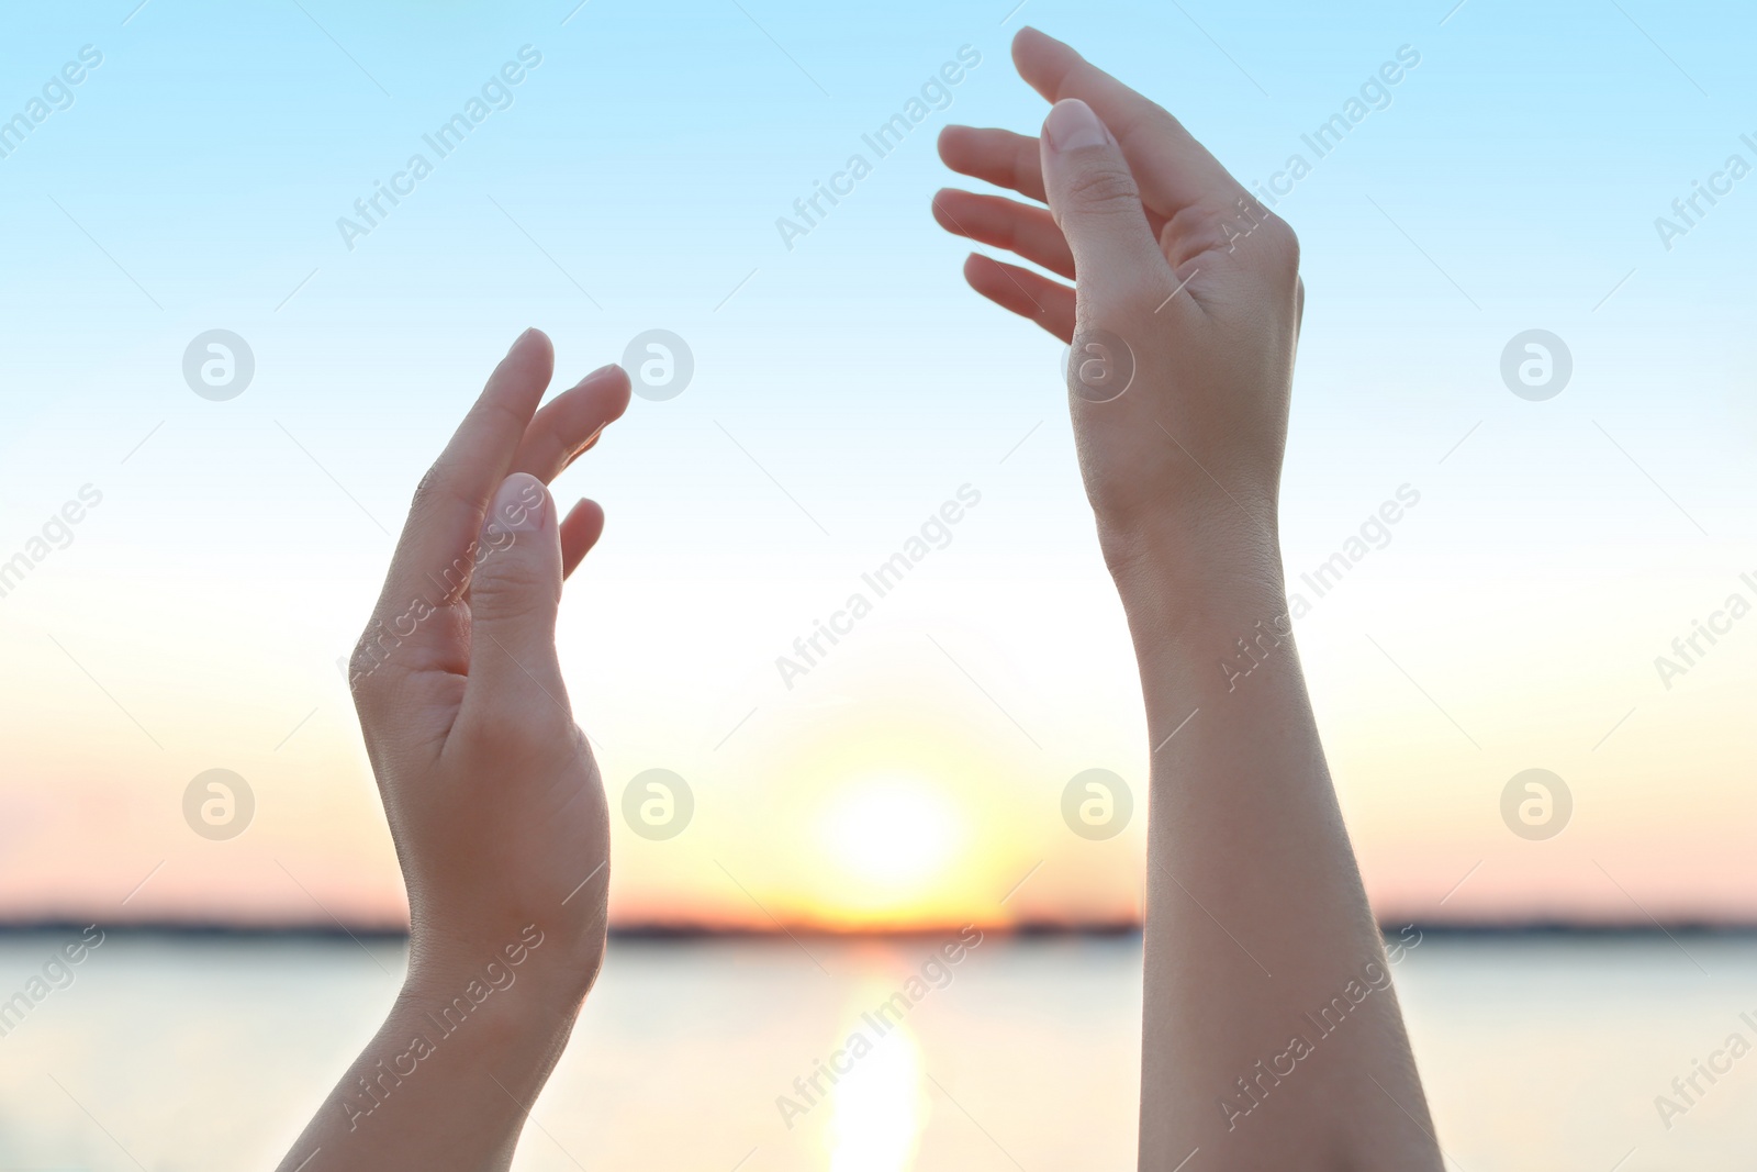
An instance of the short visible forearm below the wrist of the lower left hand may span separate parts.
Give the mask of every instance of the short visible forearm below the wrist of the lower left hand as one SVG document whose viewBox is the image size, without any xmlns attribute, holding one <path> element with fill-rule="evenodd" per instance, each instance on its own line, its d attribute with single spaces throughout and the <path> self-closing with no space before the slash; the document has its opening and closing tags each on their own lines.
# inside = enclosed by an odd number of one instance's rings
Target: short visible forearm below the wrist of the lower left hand
<svg viewBox="0 0 1757 1172">
<path fill-rule="evenodd" d="M 578 1012 L 546 979 L 541 940 L 534 931 L 480 963 L 411 965 L 385 1024 L 279 1172 L 306 1168 L 318 1149 L 307 1172 L 504 1170 Z"/>
</svg>

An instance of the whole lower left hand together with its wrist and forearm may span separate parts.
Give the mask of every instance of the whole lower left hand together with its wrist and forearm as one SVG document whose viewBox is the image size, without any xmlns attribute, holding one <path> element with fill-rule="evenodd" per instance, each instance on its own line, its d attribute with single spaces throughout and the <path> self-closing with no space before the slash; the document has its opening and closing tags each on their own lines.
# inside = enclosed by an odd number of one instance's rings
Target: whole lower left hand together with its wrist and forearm
<svg viewBox="0 0 1757 1172">
<path fill-rule="evenodd" d="M 350 671 L 409 893 L 409 972 L 283 1168 L 504 1168 L 604 954 L 610 819 L 555 659 L 603 532 L 553 480 L 629 404 L 618 367 L 538 411 L 527 330 L 409 508 Z"/>
</svg>

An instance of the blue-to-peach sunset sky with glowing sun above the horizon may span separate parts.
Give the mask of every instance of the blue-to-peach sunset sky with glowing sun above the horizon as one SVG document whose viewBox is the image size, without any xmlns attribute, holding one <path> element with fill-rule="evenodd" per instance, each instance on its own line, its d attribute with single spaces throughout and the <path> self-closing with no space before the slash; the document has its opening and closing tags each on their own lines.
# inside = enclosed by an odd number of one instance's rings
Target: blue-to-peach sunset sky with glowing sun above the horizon
<svg viewBox="0 0 1757 1172">
<path fill-rule="evenodd" d="M 1061 346 L 963 285 L 928 211 L 940 127 L 1040 125 L 1023 23 L 1300 234 L 1281 531 L 1381 919 L 1757 917 L 1757 14 L 1010 4 L 7 12 L 0 921 L 402 922 L 337 659 L 529 325 L 569 381 L 648 330 L 694 360 L 557 481 L 610 518 L 559 640 L 611 805 L 648 770 L 692 796 L 668 838 L 618 819 L 615 922 L 1139 917 L 1146 727 Z M 863 135 L 961 54 L 877 158 Z M 211 330 L 248 346 L 232 397 L 184 374 Z M 248 787 L 232 836 L 197 829 L 209 770 Z M 1109 838 L 1063 817 L 1088 770 L 1135 799 Z"/>
</svg>

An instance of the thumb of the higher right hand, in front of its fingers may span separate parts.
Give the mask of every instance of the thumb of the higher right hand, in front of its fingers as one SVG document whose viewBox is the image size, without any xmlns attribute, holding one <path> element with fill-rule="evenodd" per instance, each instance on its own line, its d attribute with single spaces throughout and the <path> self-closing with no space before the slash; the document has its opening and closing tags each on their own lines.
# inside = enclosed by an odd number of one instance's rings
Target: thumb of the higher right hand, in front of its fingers
<svg viewBox="0 0 1757 1172">
<path fill-rule="evenodd" d="M 1154 292 L 1163 297 L 1170 265 L 1123 148 L 1098 114 L 1079 98 L 1056 102 L 1040 149 L 1049 211 L 1074 251 L 1082 323 L 1114 320 Z"/>
</svg>

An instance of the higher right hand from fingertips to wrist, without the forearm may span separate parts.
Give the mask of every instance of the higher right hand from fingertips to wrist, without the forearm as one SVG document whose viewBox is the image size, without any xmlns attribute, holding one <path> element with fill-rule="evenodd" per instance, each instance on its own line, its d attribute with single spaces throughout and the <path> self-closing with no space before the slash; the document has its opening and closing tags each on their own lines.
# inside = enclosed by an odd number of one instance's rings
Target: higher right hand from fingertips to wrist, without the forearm
<svg viewBox="0 0 1757 1172">
<path fill-rule="evenodd" d="M 1163 109 L 1026 28 L 1042 139 L 947 127 L 940 155 L 1017 202 L 945 190 L 935 218 L 1070 281 L 972 255 L 965 278 L 1072 343 L 1086 490 L 1112 568 L 1274 539 L 1302 286 L 1298 242 Z M 1047 207 L 1042 204 L 1047 202 Z M 1160 548 L 1172 546 L 1172 548 Z"/>
</svg>

